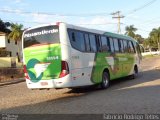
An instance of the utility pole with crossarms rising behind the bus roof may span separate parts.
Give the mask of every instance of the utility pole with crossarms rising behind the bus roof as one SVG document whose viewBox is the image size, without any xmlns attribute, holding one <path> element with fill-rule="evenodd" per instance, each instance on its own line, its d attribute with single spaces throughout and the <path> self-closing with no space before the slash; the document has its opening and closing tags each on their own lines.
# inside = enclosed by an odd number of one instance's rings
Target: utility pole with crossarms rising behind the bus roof
<svg viewBox="0 0 160 120">
<path fill-rule="evenodd" d="M 113 15 L 113 19 L 118 19 L 118 33 L 121 33 L 121 27 L 120 27 L 120 24 L 121 24 L 121 18 L 124 18 L 123 15 L 120 15 L 120 11 L 117 11 L 117 12 L 114 12 L 112 13 L 111 15 Z"/>
</svg>

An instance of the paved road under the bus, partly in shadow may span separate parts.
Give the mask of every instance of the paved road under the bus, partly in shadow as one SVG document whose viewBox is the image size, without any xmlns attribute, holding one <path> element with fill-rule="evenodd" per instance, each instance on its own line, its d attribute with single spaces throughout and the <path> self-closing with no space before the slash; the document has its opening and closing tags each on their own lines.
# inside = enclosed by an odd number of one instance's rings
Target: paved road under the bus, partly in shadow
<svg viewBox="0 0 160 120">
<path fill-rule="evenodd" d="M 0 113 L 160 113 L 160 57 L 146 58 L 138 78 L 111 82 L 106 90 L 29 90 L 25 82 L 0 86 Z M 156 68 L 156 69 L 155 69 Z"/>
</svg>

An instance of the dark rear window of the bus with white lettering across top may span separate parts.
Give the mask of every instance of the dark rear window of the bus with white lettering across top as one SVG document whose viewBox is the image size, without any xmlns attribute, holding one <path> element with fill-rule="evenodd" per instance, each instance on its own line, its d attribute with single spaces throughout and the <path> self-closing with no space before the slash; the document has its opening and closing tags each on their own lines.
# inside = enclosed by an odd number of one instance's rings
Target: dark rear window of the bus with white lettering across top
<svg viewBox="0 0 160 120">
<path fill-rule="evenodd" d="M 58 26 L 45 26 L 26 31 L 23 36 L 24 48 L 41 44 L 59 43 Z"/>
</svg>

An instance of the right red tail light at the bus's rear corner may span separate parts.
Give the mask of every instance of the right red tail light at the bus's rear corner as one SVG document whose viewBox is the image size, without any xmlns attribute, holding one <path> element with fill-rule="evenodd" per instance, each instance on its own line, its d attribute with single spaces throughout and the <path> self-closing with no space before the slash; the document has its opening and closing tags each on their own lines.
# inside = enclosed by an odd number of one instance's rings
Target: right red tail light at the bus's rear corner
<svg viewBox="0 0 160 120">
<path fill-rule="evenodd" d="M 68 63 L 66 61 L 62 61 L 61 62 L 61 73 L 60 73 L 59 78 L 65 77 L 68 74 L 69 74 Z"/>
</svg>

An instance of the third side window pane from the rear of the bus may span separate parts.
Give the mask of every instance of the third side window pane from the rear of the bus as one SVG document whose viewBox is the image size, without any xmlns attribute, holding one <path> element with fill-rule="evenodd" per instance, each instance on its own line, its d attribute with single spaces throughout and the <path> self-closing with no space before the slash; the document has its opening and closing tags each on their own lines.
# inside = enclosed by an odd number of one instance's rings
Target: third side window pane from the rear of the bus
<svg viewBox="0 0 160 120">
<path fill-rule="evenodd" d="M 89 38 L 90 38 L 91 52 L 97 52 L 96 36 L 94 34 L 90 34 Z"/>
</svg>

